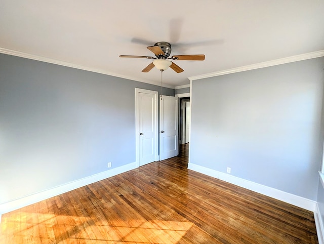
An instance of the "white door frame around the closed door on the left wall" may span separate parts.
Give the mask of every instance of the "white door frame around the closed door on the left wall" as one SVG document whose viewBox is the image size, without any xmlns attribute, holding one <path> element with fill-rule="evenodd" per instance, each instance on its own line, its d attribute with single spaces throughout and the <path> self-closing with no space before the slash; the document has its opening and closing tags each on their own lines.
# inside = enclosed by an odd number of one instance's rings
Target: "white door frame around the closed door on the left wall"
<svg viewBox="0 0 324 244">
<path fill-rule="evenodd" d="M 156 91 L 151 91 L 151 90 L 145 90 L 145 89 L 140 89 L 140 88 L 135 88 L 135 124 L 136 124 L 136 129 L 135 129 L 135 138 L 136 138 L 136 143 L 135 143 L 135 148 L 136 148 L 136 168 L 140 167 L 140 153 L 139 153 L 139 93 L 148 93 L 148 94 L 154 94 L 155 95 L 155 161 L 157 161 L 157 145 L 158 145 L 158 120 L 157 120 L 157 101 L 158 101 L 158 92 Z"/>
</svg>

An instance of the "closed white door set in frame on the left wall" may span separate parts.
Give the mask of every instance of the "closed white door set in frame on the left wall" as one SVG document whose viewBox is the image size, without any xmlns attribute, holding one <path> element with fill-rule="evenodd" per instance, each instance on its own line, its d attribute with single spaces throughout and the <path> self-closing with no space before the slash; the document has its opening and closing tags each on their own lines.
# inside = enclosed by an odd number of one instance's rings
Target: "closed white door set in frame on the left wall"
<svg viewBox="0 0 324 244">
<path fill-rule="evenodd" d="M 156 161 L 157 109 L 156 94 L 138 93 L 139 104 L 139 165 Z"/>
</svg>

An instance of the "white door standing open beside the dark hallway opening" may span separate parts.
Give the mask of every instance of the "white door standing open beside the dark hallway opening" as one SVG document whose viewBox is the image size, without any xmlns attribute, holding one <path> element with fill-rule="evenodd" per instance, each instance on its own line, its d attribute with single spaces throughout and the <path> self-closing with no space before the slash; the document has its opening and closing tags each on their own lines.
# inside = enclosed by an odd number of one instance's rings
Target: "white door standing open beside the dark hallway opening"
<svg viewBox="0 0 324 244">
<path fill-rule="evenodd" d="M 178 98 L 160 96 L 160 160 L 178 155 Z"/>
</svg>

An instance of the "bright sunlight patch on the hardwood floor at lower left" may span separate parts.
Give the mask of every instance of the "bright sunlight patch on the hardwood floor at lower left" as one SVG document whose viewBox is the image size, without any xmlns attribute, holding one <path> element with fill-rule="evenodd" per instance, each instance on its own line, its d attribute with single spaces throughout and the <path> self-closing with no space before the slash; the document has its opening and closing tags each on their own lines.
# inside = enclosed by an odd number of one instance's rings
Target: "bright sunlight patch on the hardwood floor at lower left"
<svg viewBox="0 0 324 244">
<path fill-rule="evenodd" d="M 177 243 L 192 226 L 191 222 L 143 218 L 95 222 L 90 217 L 17 211 L 11 218 L 3 216 L 0 238 L 5 238 L 4 243 L 163 244 Z"/>
</svg>

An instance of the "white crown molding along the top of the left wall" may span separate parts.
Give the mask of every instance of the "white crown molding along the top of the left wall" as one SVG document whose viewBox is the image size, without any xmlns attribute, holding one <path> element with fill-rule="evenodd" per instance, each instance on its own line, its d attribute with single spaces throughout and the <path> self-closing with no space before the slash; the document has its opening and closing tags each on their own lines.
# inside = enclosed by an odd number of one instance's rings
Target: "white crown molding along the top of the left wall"
<svg viewBox="0 0 324 244">
<path fill-rule="evenodd" d="M 109 72 L 109 71 L 103 70 L 103 69 L 97 69 L 97 68 L 93 68 L 93 67 L 83 66 L 83 65 L 74 64 L 74 63 L 69 63 L 69 62 L 65 62 L 65 61 L 61 61 L 61 60 L 57 60 L 57 59 L 52 59 L 52 58 L 42 57 L 42 56 L 38 56 L 38 55 L 23 53 L 23 52 L 20 52 L 20 51 L 10 50 L 10 49 L 6 49 L 6 48 L 1 48 L 0 47 L 0 53 L 12 55 L 12 56 L 17 56 L 17 57 L 21 57 L 21 58 L 27 58 L 27 59 L 42 61 L 42 62 L 51 63 L 51 64 L 57 64 L 57 65 L 66 66 L 66 67 L 75 68 L 75 69 L 82 69 L 82 70 L 91 71 L 91 72 L 100 73 L 100 74 L 106 74 L 106 75 L 115 76 L 115 77 L 119 77 L 119 78 L 135 80 L 136 82 L 147 83 L 147 84 L 151 84 L 151 85 L 155 85 L 155 86 L 159 86 L 159 87 L 162 86 L 162 87 L 165 87 L 165 88 L 175 89 L 174 86 L 167 85 L 167 84 L 162 84 L 161 85 L 161 83 L 150 82 L 148 80 L 134 79 L 134 78 L 126 76 L 126 75 Z"/>
</svg>

